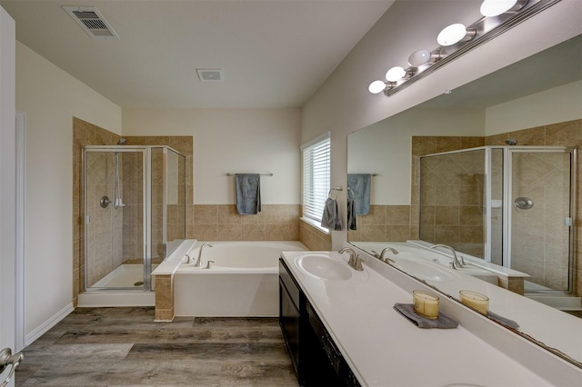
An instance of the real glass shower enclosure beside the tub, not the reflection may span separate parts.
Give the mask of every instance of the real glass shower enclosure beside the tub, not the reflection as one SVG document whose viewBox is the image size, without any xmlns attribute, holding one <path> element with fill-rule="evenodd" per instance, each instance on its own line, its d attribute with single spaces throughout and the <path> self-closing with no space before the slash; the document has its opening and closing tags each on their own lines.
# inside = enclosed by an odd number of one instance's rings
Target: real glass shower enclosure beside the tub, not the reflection
<svg viewBox="0 0 582 387">
<path fill-rule="evenodd" d="M 186 236 L 186 157 L 168 146 L 85 146 L 85 291 L 152 291 Z"/>
</svg>

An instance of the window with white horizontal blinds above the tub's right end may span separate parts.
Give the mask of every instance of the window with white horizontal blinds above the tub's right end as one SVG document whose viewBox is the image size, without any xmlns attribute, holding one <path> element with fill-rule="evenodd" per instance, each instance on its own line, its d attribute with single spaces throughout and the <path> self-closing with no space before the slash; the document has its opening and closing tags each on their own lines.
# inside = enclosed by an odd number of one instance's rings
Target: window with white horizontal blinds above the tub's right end
<svg viewBox="0 0 582 387">
<path fill-rule="evenodd" d="M 301 146 L 303 166 L 303 216 L 321 222 L 329 193 L 329 132 Z"/>
</svg>

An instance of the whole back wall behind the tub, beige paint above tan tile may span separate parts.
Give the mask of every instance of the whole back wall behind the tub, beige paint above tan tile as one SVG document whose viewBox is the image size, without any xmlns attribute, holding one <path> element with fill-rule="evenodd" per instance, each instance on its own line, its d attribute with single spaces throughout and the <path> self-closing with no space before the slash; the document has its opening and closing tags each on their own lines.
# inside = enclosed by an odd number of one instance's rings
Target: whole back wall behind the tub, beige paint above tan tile
<svg viewBox="0 0 582 387">
<path fill-rule="evenodd" d="M 186 237 L 203 241 L 299 239 L 299 109 L 126 110 L 127 136 L 194 137 L 194 196 Z M 263 211 L 236 213 L 235 178 L 261 176 Z"/>
</svg>

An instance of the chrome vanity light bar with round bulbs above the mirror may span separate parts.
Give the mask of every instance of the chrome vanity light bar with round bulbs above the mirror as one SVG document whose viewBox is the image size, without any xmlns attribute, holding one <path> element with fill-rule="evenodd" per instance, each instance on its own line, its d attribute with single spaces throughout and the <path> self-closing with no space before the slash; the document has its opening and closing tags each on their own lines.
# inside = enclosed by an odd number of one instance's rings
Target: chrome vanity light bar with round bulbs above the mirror
<svg viewBox="0 0 582 387">
<path fill-rule="evenodd" d="M 482 18 L 472 25 L 449 25 L 437 36 L 438 47 L 432 51 L 416 50 L 408 57 L 407 68 L 394 66 L 386 72 L 386 81 L 374 81 L 368 86 L 372 94 L 396 94 L 440 67 L 467 54 L 503 34 L 510 28 L 544 11 L 560 0 L 484 0 Z"/>
</svg>

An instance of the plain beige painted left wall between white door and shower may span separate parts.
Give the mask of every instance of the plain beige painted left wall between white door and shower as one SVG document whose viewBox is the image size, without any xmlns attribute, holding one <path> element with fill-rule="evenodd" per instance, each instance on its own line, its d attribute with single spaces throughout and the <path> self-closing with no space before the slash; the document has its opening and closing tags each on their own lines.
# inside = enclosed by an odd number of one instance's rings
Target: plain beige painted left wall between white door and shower
<svg viewBox="0 0 582 387">
<path fill-rule="evenodd" d="M 73 117 L 121 132 L 121 108 L 16 42 L 26 116 L 25 335 L 72 303 Z"/>
</svg>

